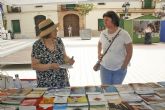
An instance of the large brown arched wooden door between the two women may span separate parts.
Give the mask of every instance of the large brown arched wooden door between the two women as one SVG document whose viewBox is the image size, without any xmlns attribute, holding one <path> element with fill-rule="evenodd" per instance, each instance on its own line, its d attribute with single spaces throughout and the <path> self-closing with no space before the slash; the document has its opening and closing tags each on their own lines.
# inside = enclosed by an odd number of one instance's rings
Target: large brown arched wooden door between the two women
<svg viewBox="0 0 165 110">
<path fill-rule="evenodd" d="M 68 27 L 72 27 L 72 36 L 79 36 L 79 16 L 75 14 L 68 14 L 64 16 L 64 36 L 69 36 Z"/>
</svg>

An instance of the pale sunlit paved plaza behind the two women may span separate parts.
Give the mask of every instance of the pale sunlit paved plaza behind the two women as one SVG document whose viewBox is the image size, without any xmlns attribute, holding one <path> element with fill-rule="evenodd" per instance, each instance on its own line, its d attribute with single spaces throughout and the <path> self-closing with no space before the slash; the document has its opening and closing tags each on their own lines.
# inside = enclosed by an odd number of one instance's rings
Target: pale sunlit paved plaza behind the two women
<svg viewBox="0 0 165 110">
<path fill-rule="evenodd" d="M 97 61 L 98 38 L 91 40 L 81 40 L 78 37 L 62 39 L 68 55 L 74 56 L 76 61 L 73 65 L 74 68 L 69 70 L 71 86 L 100 85 L 100 74 L 92 69 Z M 3 71 L 11 76 L 18 73 L 23 79 L 35 79 L 35 71 L 29 65 L 31 46 L 34 41 L 35 39 L 20 40 L 19 42 L 29 44 L 22 49 L 13 47 L 15 51 L 10 54 L 3 55 L 2 52 L 5 53 L 5 50 L 1 51 L 0 64 L 17 64 L 4 66 Z M 1 44 L 1 50 L 2 48 L 4 47 Z M 124 83 L 165 81 L 165 43 L 134 44 L 133 49 L 133 57 Z"/>
</svg>

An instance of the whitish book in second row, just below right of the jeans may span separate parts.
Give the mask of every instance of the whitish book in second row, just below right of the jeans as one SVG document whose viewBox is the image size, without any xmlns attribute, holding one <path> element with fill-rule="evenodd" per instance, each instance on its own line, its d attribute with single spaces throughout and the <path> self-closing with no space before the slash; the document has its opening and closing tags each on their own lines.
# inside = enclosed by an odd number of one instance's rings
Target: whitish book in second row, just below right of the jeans
<svg viewBox="0 0 165 110">
<path fill-rule="evenodd" d="M 120 94 L 122 101 L 124 102 L 142 102 L 142 98 L 137 94 Z"/>
</svg>

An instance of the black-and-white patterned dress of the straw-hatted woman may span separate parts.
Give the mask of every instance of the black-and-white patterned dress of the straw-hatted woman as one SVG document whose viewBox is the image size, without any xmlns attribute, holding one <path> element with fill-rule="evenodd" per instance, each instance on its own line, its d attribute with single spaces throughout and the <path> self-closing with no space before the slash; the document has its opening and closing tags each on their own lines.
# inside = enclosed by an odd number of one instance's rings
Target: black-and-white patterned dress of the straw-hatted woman
<svg viewBox="0 0 165 110">
<path fill-rule="evenodd" d="M 61 38 L 55 40 L 56 50 L 51 52 L 41 39 L 33 44 L 31 56 L 38 59 L 41 64 L 64 64 L 64 45 Z M 69 86 L 66 69 L 36 71 L 38 87 L 67 87 Z"/>
</svg>

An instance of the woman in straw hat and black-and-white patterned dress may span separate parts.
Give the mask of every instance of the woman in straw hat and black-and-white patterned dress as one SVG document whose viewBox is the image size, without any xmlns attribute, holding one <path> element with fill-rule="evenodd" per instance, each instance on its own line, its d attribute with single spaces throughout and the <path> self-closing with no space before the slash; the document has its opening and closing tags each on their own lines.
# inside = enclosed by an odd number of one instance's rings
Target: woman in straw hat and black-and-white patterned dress
<svg viewBox="0 0 165 110">
<path fill-rule="evenodd" d="M 39 24 L 40 39 L 33 44 L 31 54 L 38 87 L 70 86 L 67 70 L 60 68 L 59 65 L 64 63 L 73 65 L 74 60 L 67 56 L 61 38 L 57 37 L 57 26 L 51 19 Z"/>
</svg>

